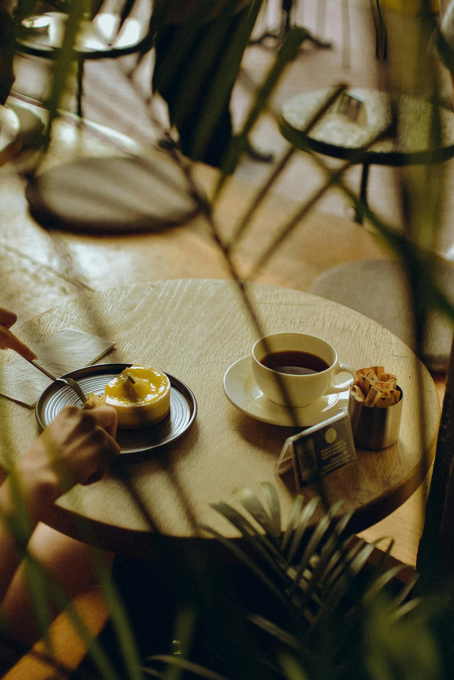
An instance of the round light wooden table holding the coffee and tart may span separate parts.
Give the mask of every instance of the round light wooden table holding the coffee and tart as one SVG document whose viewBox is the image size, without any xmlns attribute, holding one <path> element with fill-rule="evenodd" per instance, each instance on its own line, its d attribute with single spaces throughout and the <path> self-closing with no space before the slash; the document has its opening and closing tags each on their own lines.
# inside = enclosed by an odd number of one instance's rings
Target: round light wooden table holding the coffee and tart
<svg viewBox="0 0 454 680">
<path fill-rule="evenodd" d="M 357 368 L 381 364 L 398 376 L 404 392 L 398 443 L 383 452 L 358 450 L 355 462 L 323 481 L 330 504 L 343 498 L 345 510 L 355 510 L 353 530 L 375 524 L 411 496 L 432 462 L 440 415 L 432 378 L 402 341 L 347 307 L 265 284 L 250 284 L 249 291 L 266 333 L 313 333 L 332 343 L 341 361 Z M 179 377 L 193 390 L 198 415 L 186 439 L 173 449 L 126 469 L 157 531 L 147 525 L 122 481 L 112 476 L 65 494 L 49 524 L 129 554 L 158 549 L 163 540 L 194 539 L 197 524 L 234 537 L 232 526 L 210 503 L 235 505 L 235 487 L 260 494 L 260 482 L 271 481 L 285 526 L 296 490 L 275 477 L 274 468 L 294 430 L 249 418 L 222 390 L 226 369 L 249 354 L 256 339 L 232 282 L 181 279 L 103 290 L 41 314 L 21 326 L 18 335 L 37 343 L 67 326 L 115 340 L 116 350 L 105 362 L 143 362 Z M 1 365 L 11 359 L 12 353 L 2 353 Z M 0 398 L 0 422 L 2 456 L 8 446 L 19 456 L 38 434 L 34 412 L 6 398 Z M 315 489 L 308 486 L 303 494 L 309 500 Z"/>
</svg>

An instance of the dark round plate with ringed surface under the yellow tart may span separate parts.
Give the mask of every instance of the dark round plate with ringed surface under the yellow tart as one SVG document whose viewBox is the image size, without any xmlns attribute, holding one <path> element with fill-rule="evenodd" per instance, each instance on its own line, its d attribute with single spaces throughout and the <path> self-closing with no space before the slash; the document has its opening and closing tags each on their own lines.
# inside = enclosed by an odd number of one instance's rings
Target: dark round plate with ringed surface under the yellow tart
<svg viewBox="0 0 454 680">
<path fill-rule="evenodd" d="M 82 387 L 85 394 L 103 394 L 108 382 L 124 369 L 133 364 L 96 364 L 84 369 L 71 371 L 62 377 L 71 377 Z M 150 452 L 158 452 L 164 446 L 174 443 L 188 431 L 197 415 L 197 402 L 194 394 L 181 380 L 169 375 L 171 383 L 170 416 L 158 425 L 137 430 L 118 430 L 117 441 L 121 449 L 121 458 L 141 460 Z M 41 428 L 45 428 L 58 413 L 69 405 L 82 407 L 80 398 L 71 388 L 58 381 L 50 384 L 39 396 L 35 414 Z"/>
</svg>

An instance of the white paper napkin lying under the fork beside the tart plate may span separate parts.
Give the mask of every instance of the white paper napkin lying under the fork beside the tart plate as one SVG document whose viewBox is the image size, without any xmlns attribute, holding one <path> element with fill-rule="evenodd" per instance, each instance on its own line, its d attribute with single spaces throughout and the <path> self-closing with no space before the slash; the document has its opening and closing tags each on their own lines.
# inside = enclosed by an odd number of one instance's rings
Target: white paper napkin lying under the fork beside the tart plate
<svg viewBox="0 0 454 680">
<path fill-rule="evenodd" d="M 30 345 L 37 363 L 60 377 L 70 371 L 94 364 L 115 343 L 75 328 L 64 328 L 39 345 Z M 21 356 L 0 369 L 0 394 L 33 407 L 52 380 L 34 369 Z"/>
</svg>

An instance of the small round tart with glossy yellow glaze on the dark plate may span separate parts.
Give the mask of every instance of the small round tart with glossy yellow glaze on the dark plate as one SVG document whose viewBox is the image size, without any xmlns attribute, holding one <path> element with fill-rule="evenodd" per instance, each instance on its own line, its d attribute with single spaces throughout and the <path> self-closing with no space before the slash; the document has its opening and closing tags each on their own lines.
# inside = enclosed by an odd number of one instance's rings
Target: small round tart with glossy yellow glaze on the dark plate
<svg viewBox="0 0 454 680">
<path fill-rule="evenodd" d="M 85 408 L 113 406 L 119 428 L 139 428 L 164 420 L 170 411 L 171 385 L 165 373 L 147 366 L 124 369 L 105 386 L 105 394 L 87 395 Z"/>
</svg>

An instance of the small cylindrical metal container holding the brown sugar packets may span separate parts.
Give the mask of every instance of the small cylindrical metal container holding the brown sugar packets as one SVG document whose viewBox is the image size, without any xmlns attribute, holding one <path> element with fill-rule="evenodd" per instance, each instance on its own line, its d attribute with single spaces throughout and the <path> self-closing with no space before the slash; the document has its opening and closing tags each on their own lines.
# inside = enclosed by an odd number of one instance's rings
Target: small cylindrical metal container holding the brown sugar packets
<svg viewBox="0 0 454 680">
<path fill-rule="evenodd" d="M 399 386 L 400 399 L 397 404 L 379 409 L 366 406 L 349 396 L 349 416 L 353 441 L 360 449 L 380 451 L 392 446 L 399 439 L 400 418 L 404 393 Z"/>
</svg>

